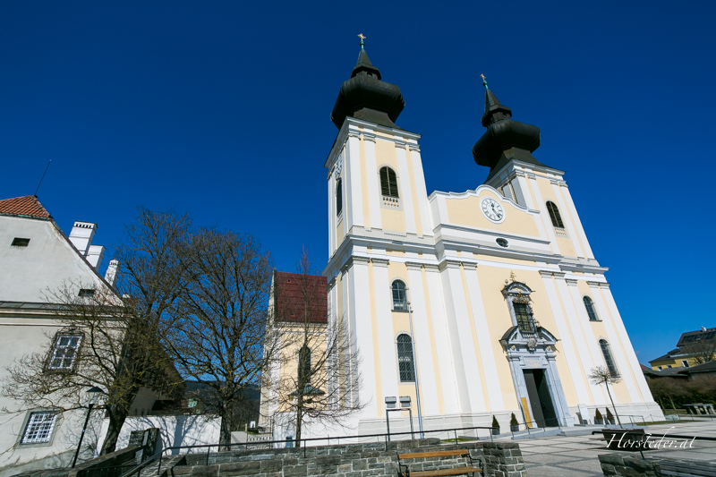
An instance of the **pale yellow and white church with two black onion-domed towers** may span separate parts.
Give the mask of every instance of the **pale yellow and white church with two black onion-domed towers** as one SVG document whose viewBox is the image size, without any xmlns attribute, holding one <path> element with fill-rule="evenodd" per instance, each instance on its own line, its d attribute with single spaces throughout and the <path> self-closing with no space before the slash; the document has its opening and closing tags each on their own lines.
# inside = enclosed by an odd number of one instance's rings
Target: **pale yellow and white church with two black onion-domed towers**
<svg viewBox="0 0 716 477">
<path fill-rule="evenodd" d="M 361 48 L 331 114 L 323 275 L 328 319 L 342 317 L 361 356 L 352 396 L 365 405 L 328 434 L 385 432 L 388 396 L 411 396 L 415 419 L 417 394 L 425 430 L 492 416 L 507 430 L 511 413 L 532 427 L 593 422 L 611 408 L 588 378 L 598 366 L 621 377 L 609 388 L 618 413 L 661 419 L 565 172 L 533 156 L 539 128 L 483 82 L 472 152 L 490 173 L 428 195 L 421 135 L 396 124 L 403 95 Z"/>
</svg>

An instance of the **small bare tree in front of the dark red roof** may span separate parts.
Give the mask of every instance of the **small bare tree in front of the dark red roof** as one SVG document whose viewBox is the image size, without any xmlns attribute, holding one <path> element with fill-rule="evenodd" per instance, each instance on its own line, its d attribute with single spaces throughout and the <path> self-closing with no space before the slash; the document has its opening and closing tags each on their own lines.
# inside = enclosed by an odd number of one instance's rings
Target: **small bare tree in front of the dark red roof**
<svg viewBox="0 0 716 477">
<path fill-rule="evenodd" d="M 326 279 L 311 269 L 305 249 L 291 281 L 290 288 L 275 283 L 272 326 L 285 338 L 273 396 L 281 424 L 295 428 L 300 447 L 304 424 L 341 424 L 365 403 L 360 353 L 343 316 L 328 310 Z"/>
</svg>

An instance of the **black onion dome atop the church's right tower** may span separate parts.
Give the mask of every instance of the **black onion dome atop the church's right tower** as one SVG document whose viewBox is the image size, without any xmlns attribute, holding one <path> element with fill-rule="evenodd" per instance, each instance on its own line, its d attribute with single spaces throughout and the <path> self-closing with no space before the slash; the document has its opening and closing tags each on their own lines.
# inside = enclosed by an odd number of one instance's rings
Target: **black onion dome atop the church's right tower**
<svg viewBox="0 0 716 477">
<path fill-rule="evenodd" d="M 485 183 L 513 159 L 544 166 L 532 155 L 532 152 L 540 147 L 540 128 L 511 119 L 512 110 L 499 102 L 487 87 L 484 76 L 482 85 L 485 87 L 485 114 L 482 115 L 482 125 L 487 131 L 482 134 L 480 141 L 475 142 L 473 158 L 479 166 L 490 167 Z"/>
</svg>

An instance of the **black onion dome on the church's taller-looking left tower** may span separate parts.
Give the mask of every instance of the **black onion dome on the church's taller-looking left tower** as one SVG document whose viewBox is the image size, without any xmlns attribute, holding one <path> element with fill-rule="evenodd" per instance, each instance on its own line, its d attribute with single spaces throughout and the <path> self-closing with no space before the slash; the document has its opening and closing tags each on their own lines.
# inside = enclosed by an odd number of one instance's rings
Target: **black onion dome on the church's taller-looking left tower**
<svg viewBox="0 0 716 477">
<path fill-rule="evenodd" d="M 397 116 L 405 107 L 405 99 L 395 84 L 380 81 L 378 68 L 371 64 L 364 49 L 358 55 L 351 79 L 344 81 L 330 114 L 338 129 L 346 116 L 364 119 L 382 126 L 397 127 Z"/>
</svg>

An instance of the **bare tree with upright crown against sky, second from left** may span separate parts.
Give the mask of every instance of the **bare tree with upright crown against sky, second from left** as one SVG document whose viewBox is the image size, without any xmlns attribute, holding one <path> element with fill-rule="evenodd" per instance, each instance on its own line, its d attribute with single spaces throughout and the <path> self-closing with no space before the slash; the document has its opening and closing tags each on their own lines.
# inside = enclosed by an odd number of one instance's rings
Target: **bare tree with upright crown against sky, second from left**
<svg viewBox="0 0 716 477">
<path fill-rule="evenodd" d="M 259 388 L 276 354 L 278 336 L 266 328 L 272 263 L 251 235 L 212 229 L 192 234 L 181 261 L 188 281 L 172 307 L 166 351 L 182 376 L 211 389 L 201 399 L 221 417 L 226 446 L 244 390 Z"/>
</svg>

